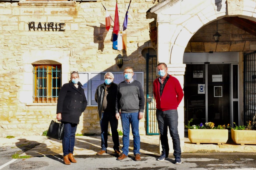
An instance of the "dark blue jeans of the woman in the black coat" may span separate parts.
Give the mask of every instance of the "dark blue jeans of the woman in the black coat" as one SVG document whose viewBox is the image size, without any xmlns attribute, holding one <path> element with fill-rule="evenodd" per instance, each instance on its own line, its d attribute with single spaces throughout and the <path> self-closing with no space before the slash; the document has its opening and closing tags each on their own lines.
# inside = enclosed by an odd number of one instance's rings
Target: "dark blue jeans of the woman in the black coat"
<svg viewBox="0 0 256 170">
<path fill-rule="evenodd" d="M 64 137 L 62 139 L 62 150 L 63 156 L 74 152 L 75 135 L 77 131 L 77 124 L 62 122 L 64 123 Z"/>
</svg>

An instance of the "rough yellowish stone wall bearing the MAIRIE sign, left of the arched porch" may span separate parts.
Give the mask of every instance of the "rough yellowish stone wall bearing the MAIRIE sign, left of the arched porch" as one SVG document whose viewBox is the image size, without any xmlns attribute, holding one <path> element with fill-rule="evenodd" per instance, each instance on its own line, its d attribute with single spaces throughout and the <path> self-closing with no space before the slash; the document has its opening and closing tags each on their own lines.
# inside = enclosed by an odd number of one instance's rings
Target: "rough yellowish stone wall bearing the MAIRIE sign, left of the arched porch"
<svg viewBox="0 0 256 170">
<path fill-rule="evenodd" d="M 105 10 L 101 4 L 114 19 L 115 2 L 0 3 L 0 136 L 41 135 L 56 117 L 56 103 L 33 103 L 33 62 L 61 63 L 62 84 L 68 82 L 69 73 L 74 70 L 123 71 L 126 66 L 132 66 L 134 71 L 145 73 L 146 61 L 141 50 L 150 46 L 144 45 L 150 44 L 147 41 L 151 20 L 146 19 L 146 11 L 155 5 L 154 1 L 131 3 L 131 17 L 125 31 L 127 49 L 122 51 L 112 49 L 112 27 L 106 31 Z M 118 1 L 120 25 L 129 2 Z M 65 32 L 29 31 L 29 22 L 65 23 Z M 118 54 L 124 57 L 121 69 L 116 65 Z M 96 107 L 87 107 L 80 117 L 77 133 L 100 133 Z M 145 133 L 146 121 L 142 119 L 140 134 Z"/>
</svg>

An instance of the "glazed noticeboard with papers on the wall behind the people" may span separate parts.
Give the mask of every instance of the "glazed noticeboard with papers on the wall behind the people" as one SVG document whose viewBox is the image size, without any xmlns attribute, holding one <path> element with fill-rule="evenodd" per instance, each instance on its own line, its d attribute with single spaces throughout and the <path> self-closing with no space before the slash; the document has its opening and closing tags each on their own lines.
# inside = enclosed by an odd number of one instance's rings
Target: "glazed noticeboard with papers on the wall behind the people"
<svg viewBox="0 0 256 170">
<path fill-rule="evenodd" d="M 79 72 L 79 81 L 83 85 L 84 93 L 88 101 L 88 106 L 97 106 L 95 101 L 95 91 L 97 87 L 104 83 L 104 75 L 106 72 Z M 112 72 L 114 75 L 114 83 L 119 84 L 124 81 L 123 72 Z M 134 72 L 134 80 L 138 80 L 144 87 L 144 72 Z"/>
</svg>

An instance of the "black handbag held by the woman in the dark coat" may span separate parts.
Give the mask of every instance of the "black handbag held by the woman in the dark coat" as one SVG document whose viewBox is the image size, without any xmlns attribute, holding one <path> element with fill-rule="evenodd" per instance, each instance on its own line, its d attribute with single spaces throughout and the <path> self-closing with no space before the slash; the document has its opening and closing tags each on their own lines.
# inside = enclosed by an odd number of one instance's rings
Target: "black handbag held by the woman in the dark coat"
<svg viewBox="0 0 256 170">
<path fill-rule="evenodd" d="M 64 137 L 64 124 L 56 122 L 56 119 L 51 121 L 49 126 L 47 136 L 52 137 L 54 139 L 62 140 Z"/>
</svg>

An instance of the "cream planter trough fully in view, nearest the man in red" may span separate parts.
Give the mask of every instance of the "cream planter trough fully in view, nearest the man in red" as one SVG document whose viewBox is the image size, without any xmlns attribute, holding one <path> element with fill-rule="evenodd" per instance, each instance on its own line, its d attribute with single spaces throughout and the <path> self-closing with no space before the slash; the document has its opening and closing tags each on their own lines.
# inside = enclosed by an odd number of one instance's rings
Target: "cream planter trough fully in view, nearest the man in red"
<svg viewBox="0 0 256 170">
<path fill-rule="evenodd" d="M 188 139 L 192 143 L 217 143 L 228 141 L 227 129 L 188 129 Z"/>
</svg>

